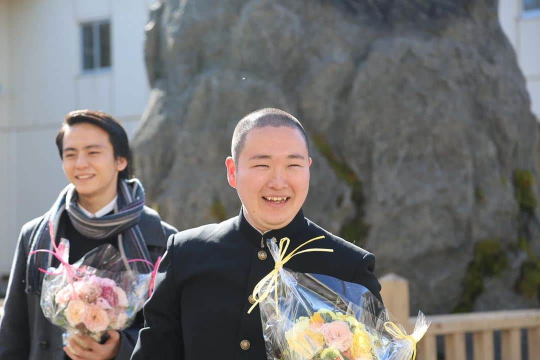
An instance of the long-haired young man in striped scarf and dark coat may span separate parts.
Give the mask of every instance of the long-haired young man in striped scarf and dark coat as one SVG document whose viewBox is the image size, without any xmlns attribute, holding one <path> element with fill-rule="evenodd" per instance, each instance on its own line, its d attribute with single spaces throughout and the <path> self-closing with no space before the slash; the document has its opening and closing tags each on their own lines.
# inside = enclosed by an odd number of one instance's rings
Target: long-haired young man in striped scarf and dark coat
<svg viewBox="0 0 540 360">
<path fill-rule="evenodd" d="M 58 244 L 70 242 L 69 262 L 102 245 L 111 244 L 122 257 L 154 263 L 165 250 L 167 237 L 176 229 L 161 221 L 145 206 L 144 189 L 130 178 L 130 147 L 117 120 L 98 111 L 72 111 L 56 137 L 62 168 L 70 184 L 60 192 L 48 212 L 26 223 L 17 248 L 0 322 L 0 358 L 30 360 L 129 359 L 143 324 L 141 314 L 130 328 L 108 331 L 106 341 L 91 337 L 70 338 L 62 343 L 63 330 L 43 315 L 39 268 L 58 266 L 48 254 L 28 256 L 51 249 L 49 224 Z M 151 271 L 140 262 L 140 271 Z M 85 344 L 83 347 L 80 343 Z"/>
</svg>

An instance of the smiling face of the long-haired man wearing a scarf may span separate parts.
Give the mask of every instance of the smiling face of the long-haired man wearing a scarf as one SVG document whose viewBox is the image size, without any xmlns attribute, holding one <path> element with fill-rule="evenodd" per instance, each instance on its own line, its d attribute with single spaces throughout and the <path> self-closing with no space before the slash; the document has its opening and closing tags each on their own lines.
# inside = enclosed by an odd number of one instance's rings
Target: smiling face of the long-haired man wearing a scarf
<svg viewBox="0 0 540 360">
<path fill-rule="evenodd" d="M 64 132 L 62 149 L 62 168 L 75 185 L 80 205 L 96 212 L 111 202 L 127 160 L 114 157 L 109 134 L 89 123 L 74 124 Z"/>
</svg>

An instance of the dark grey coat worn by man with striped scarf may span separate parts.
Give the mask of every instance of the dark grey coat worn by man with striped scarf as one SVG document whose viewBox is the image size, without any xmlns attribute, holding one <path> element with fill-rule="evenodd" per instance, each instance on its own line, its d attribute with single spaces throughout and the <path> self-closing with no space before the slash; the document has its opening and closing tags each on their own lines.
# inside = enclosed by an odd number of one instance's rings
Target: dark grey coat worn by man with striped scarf
<svg viewBox="0 0 540 360">
<path fill-rule="evenodd" d="M 68 216 L 64 218 L 69 221 Z M 63 360 L 65 357 L 62 350 L 63 330 L 45 318 L 38 295 L 25 293 L 26 260 L 30 251 L 30 236 L 42 220 L 43 216 L 26 223 L 19 235 L 4 302 L 4 316 L 0 321 L 0 359 L 2 360 Z M 143 232 L 151 257 L 154 258 L 153 261 L 156 261 L 157 256 L 165 251 L 167 237 L 177 232 L 175 228 L 161 221 L 159 215 L 148 207 L 144 208 L 139 227 Z M 76 249 L 71 250 L 72 253 L 76 253 Z M 117 360 L 130 358 L 137 333 L 142 325 L 143 319 L 139 316 L 130 328 L 120 331 Z"/>
</svg>

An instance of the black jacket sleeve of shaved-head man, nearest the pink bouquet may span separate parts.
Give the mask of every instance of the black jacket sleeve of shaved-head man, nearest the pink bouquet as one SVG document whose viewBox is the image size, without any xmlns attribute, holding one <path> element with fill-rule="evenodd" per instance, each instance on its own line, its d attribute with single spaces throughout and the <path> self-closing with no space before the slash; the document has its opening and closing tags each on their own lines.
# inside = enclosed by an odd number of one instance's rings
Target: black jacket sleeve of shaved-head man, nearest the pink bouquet
<svg viewBox="0 0 540 360">
<path fill-rule="evenodd" d="M 174 259 L 175 250 L 171 235 L 159 264 L 154 292 L 143 308 L 145 327 L 139 331 L 132 360 L 184 359 L 180 293 L 174 274 L 174 262 L 178 261 Z"/>
</svg>

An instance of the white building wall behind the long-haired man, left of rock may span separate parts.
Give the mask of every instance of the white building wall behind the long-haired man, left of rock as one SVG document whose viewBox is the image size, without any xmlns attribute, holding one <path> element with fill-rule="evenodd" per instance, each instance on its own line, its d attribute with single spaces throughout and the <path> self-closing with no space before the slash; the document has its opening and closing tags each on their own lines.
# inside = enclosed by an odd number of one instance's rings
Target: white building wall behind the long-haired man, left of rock
<svg viewBox="0 0 540 360">
<path fill-rule="evenodd" d="M 66 113 L 111 113 L 129 135 L 149 88 L 144 24 L 151 0 L 0 0 L 0 276 L 21 226 L 67 184 L 55 145 Z M 110 70 L 82 72 L 79 24 L 109 19 Z M 4 230 L 6 229 L 6 230 Z"/>
</svg>

